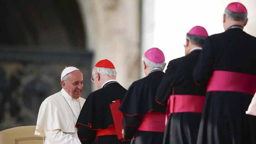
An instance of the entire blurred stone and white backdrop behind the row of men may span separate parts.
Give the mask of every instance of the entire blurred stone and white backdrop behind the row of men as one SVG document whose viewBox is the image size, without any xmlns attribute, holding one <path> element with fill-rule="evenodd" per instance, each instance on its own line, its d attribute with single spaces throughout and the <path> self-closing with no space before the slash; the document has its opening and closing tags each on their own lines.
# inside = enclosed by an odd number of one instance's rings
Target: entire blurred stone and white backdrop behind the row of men
<svg viewBox="0 0 256 144">
<path fill-rule="evenodd" d="M 91 70 L 109 59 L 125 88 L 144 77 L 141 55 L 151 47 L 165 61 L 184 56 L 186 33 L 195 25 L 223 32 L 233 0 L 0 0 L 0 131 L 35 125 L 41 102 L 58 92 L 65 66 L 83 73 L 86 98 L 95 90 Z M 245 32 L 256 36 L 256 1 Z"/>
</svg>

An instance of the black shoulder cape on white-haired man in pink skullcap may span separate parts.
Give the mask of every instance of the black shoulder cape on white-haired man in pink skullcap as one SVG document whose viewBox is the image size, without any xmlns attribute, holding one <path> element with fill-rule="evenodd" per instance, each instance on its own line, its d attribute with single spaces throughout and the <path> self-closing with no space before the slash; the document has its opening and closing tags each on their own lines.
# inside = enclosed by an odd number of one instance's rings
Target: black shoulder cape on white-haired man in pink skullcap
<svg viewBox="0 0 256 144">
<path fill-rule="evenodd" d="M 121 102 L 119 111 L 127 116 L 145 115 L 151 111 L 166 112 L 166 106 L 155 101 L 163 75 L 163 71 L 153 71 L 145 78 L 133 82 Z"/>
</svg>

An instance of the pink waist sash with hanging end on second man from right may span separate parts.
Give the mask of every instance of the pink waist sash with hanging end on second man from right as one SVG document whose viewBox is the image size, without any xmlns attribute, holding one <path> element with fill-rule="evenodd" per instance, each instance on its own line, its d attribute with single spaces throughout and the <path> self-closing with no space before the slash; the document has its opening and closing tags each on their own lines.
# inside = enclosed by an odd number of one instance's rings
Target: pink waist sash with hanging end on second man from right
<svg viewBox="0 0 256 144">
<path fill-rule="evenodd" d="M 171 113 L 202 113 L 205 96 L 202 95 L 170 95 L 167 103 L 165 125 Z"/>
</svg>

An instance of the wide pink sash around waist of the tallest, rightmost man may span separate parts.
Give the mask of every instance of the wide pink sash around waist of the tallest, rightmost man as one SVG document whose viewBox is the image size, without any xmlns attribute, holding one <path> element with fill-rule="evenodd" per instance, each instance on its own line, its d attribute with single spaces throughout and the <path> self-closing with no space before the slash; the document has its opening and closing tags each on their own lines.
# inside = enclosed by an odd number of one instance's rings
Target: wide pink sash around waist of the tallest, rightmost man
<svg viewBox="0 0 256 144">
<path fill-rule="evenodd" d="M 216 70 L 207 85 L 207 92 L 210 91 L 231 91 L 254 95 L 256 75 Z"/>
</svg>

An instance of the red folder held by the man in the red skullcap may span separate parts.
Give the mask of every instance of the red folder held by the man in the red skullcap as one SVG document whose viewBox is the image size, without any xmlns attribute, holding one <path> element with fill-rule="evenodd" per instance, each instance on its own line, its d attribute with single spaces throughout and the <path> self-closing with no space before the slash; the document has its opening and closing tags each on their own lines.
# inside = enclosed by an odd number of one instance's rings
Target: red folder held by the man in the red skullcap
<svg viewBox="0 0 256 144">
<path fill-rule="evenodd" d="M 123 129 L 122 120 L 124 116 L 123 116 L 123 113 L 118 110 L 119 106 L 120 106 L 120 99 L 111 103 L 110 109 L 111 109 L 112 117 L 114 120 L 118 140 L 124 141 L 123 134 L 122 134 L 122 129 Z"/>
</svg>

